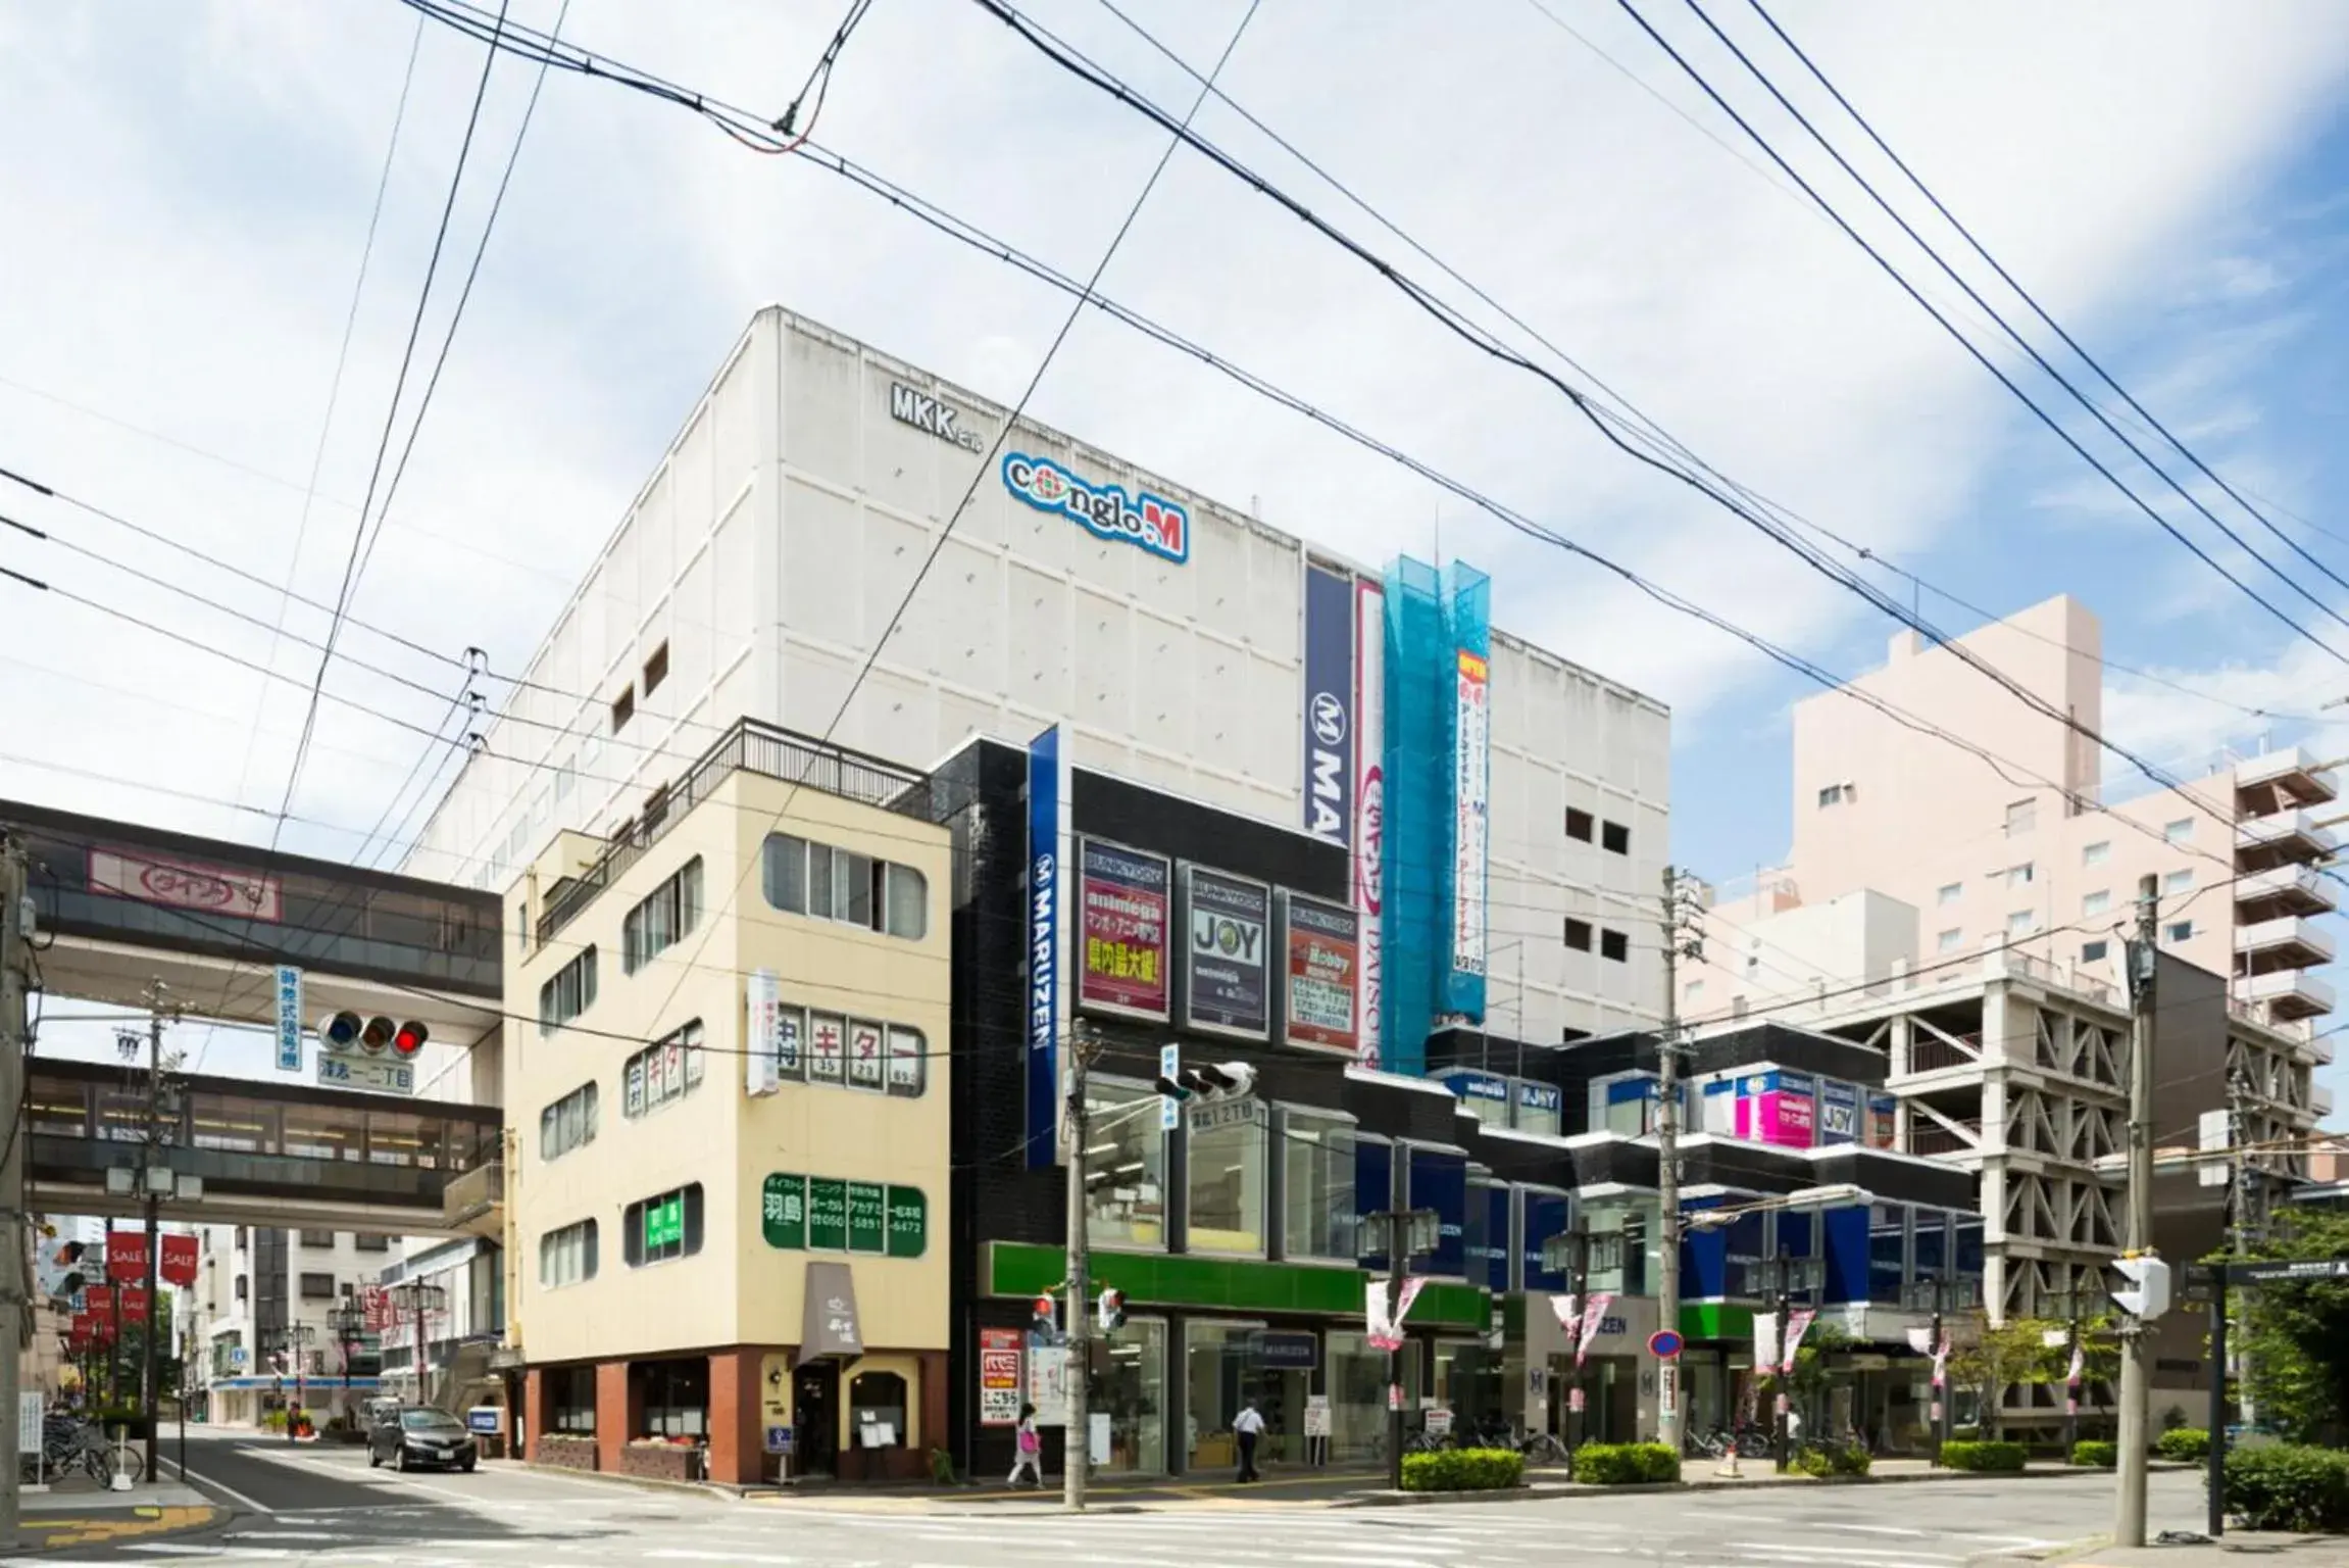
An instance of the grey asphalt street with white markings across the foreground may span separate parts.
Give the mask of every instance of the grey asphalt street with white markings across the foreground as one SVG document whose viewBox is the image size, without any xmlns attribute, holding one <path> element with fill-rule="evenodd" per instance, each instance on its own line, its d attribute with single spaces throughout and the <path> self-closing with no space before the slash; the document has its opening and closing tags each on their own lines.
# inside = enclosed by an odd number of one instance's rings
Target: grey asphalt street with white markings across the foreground
<svg viewBox="0 0 2349 1568">
<path fill-rule="evenodd" d="M 879 1495 L 712 1500 L 486 1465 L 395 1476 L 348 1448 L 190 1436 L 190 1479 L 235 1509 L 207 1535 L 68 1549 L 26 1563 L 622 1563 L 740 1568 L 1961 1568 L 2112 1523 L 2109 1476 L 1647 1493 L 1543 1502 L 1330 1509 L 1214 1497 L 1066 1516 L 1045 1502 L 928 1505 Z M 2194 1528 L 2201 1486 L 2159 1474 L 2152 1528 Z"/>
</svg>

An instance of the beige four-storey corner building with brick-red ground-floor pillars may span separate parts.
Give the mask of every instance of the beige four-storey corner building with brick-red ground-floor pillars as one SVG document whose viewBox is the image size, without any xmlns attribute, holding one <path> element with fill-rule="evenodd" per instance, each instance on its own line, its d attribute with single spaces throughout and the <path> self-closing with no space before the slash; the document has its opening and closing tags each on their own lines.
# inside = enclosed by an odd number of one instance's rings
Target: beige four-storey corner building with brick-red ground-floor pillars
<svg viewBox="0 0 2349 1568">
<path fill-rule="evenodd" d="M 756 722 L 507 900 L 531 1458 L 921 1474 L 947 1408 L 949 849 L 918 773 Z"/>
</svg>

